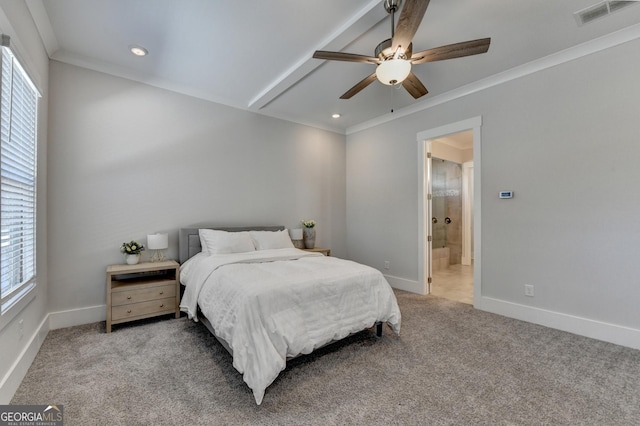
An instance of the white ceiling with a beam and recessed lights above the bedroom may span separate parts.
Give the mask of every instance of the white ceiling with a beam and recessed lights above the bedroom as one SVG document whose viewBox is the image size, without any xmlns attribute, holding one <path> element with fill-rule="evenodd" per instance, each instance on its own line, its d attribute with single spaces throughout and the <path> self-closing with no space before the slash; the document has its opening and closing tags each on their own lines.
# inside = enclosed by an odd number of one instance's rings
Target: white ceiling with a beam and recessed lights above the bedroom
<svg viewBox="0 0 640 426">
<path fill-rule="evenodd" d="M 429 94 L 374 82 L 338 99 L 374 65 L 315 50 L 374 55 L 391 35 L 382 0 L 27 0 L 50 58 L 339 133 L 456 88 L 640 23 L 632 5 L 579 26 L 600 0 L 431 0 L 414 51 L 491 37 L 486 54 L 414 65 Z M 128 46 L 149 50 L 135 57 Z M 340 119 L 331 114 L 339 112 Z"/>
</svg>

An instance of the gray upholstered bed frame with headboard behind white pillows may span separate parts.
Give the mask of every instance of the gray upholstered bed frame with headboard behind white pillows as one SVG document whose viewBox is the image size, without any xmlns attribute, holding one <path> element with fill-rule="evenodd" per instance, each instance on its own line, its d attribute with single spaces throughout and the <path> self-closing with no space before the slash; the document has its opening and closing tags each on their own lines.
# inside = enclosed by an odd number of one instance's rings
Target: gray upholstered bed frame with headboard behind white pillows
<svg viewBox="0 0 640 426">
<path fill-rule="evenodd" d="M 282 231 L 285 229 L 284 226 L 275 225 L 275 226 L 210 226 L 210 225 L 201 225 L 201 226 L 193 226 L 190 228 L 180 228 L 180 233 L 178 236 L 179 242 L 179 259 L 180 264 L 186 262 L 191 257 L 202 251 L 202 245 L 200 244 L 200 229 L 215 229 L 218 231 L 227 231 L 227 232 L 242 232 L 242 231 Z M 220 344 L 224 346 L 224 348 L 233 355 L 233 351 L 229 344 L 221 337 L 217 335 L 213 326 L 200 312 L 200 308 L 198 308 L 198 321 L 202 322 L 205 327 L 213 334 L 213 336 L 218 339 Z M 375 324 L 376 327 L 376 337 L 382 337 L 382 323 L 377 322 Z M 328 344 L 331 344 L 330 342 Z M 295 357 L 294 357 L 295 358 Z M 292 359 L 292 358 L 287 358 Z"/>
</svg>

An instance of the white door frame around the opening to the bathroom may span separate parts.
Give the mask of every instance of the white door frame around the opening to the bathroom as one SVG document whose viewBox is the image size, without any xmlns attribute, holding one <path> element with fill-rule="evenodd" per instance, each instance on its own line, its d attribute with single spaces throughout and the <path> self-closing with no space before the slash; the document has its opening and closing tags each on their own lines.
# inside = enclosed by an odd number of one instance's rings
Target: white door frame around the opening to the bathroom
<svg viewBox="0 0 640 426">
<path fill-rule="evenodd" d="M 441 138 L 454 133 L 471 130 L 473 132 L 473 305 L 479 308 L 482 294 L 481 282 L 481 128 L 482 116 L 472 117 L 444 126 L 427 129 L 416 135 L 418 142 L 418 284 L 422 294 L 430 292 L 431 277 L 431 216 L 427 191 L 430 191 L 430 158 L 431 139 Z"/>
</svg>

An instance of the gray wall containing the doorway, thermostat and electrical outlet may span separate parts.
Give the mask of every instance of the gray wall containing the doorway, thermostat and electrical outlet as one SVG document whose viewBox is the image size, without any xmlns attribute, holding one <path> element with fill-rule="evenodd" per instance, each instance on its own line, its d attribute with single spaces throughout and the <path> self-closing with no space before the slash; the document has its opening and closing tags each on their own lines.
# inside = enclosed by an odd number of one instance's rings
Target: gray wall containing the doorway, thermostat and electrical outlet
<svg viewBox="0 0 640 426">
<path fill-rule="evenodd" d="M 349 256 L 418 281 L 417 134 L 482 116 L 477 306 L 640 347 L 639 49 L 627 42 L 349 135 Z M 505 189 L 516 197 L 499 200 Z"/>
</svg>

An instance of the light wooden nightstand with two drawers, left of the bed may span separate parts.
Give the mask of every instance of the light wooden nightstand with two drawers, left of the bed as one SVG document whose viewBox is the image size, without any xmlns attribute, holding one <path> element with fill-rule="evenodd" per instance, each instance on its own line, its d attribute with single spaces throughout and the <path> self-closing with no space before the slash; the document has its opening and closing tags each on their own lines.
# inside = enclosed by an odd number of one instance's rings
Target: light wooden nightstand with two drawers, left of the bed
<svg viewBox="0 0 640 426">
<path fill-rule="evenodd" d="M 107 333 L 111 325 L 175 313 L 180 318 L 180 265 L 175 260 L 107 267 Z"/>
</svg>

